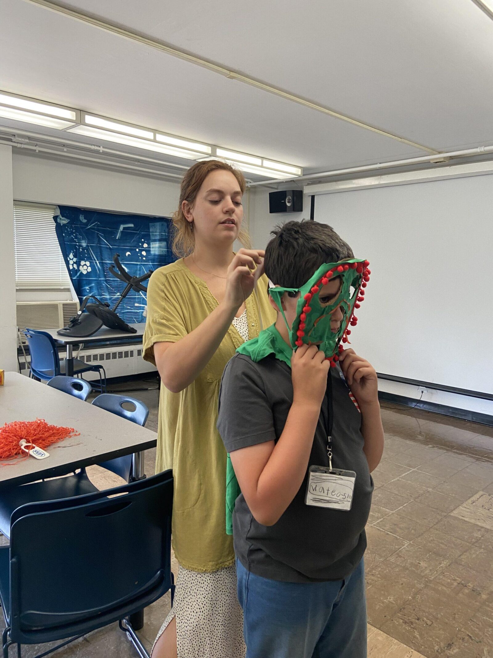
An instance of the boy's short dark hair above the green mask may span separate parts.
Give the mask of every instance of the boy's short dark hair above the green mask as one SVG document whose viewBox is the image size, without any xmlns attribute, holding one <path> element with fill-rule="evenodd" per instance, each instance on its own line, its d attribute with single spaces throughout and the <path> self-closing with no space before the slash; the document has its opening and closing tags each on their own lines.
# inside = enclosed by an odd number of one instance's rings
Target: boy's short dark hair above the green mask
<svg viewBox="0 0 493 658">
<path fill-rule="evenodd" d="M 354 258 L 331 226 L 314 220 L 286 222 L 271 235 L 264 266 L 271 282 L 282 288 L 301 288 L 323 263 Z"/>
</svg>

